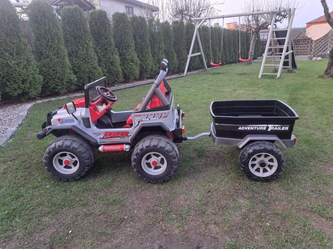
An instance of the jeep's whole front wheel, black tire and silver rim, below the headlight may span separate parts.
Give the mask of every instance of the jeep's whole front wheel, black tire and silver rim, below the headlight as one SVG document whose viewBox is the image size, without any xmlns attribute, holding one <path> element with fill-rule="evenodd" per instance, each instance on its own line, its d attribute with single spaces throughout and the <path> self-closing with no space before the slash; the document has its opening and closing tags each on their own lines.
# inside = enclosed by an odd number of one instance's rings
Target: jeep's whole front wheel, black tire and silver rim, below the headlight
<svg viewBox="0 0 333 249">
<path fill-rule="evenodd" d="M 43 163 L 49 174 L 58 180 L 79 180 L 94 163 L 94 149 L 78 135 L 64 135 L 46 149 Z"/>
</svg>

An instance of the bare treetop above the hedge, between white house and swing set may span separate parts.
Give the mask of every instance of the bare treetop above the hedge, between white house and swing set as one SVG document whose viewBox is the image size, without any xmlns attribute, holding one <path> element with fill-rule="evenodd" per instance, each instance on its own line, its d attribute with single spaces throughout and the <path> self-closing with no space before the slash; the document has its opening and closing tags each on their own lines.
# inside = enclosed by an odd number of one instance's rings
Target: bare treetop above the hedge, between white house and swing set
<svg viewBox="0 0 333 249">
<path fill-rule="evenodd" d="M 210 3 L 210 0 L 167 0 L 165 8 L 171 21 L 179 20 L 186 23 L 195 17 L 217 15 L 218 4 L 223 3 Z"/>
</svg>

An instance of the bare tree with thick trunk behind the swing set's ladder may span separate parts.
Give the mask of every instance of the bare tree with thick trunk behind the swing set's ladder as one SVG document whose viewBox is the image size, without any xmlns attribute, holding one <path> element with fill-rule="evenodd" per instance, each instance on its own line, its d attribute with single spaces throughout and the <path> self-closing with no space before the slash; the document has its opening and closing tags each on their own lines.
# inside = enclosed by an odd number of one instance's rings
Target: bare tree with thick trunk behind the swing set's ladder
<svg viewBox="0 0 333 249">
<path fill-rule="evenodd" d="M 261 10 L 277 10 L 275 23 L 282 23 L 283 20 L 288 18 L 288 9 L 296 7 L 296 0 L 247 0 L 245 5 L 242 6 L 242 12 L 254 12 Z M 266 15 L 269 19 L 269 15 Z M 260 15 L 245 16 L 242 18 L 247 31 L 252 29 L 251 45 L 249 51 L 248 64 L 252 64 L 253 53 L 257 36 L 262 29 L 268 29 L 270 23 L 263 19 Z M 273 29 L 274 27 L 271 27 Z"/>
</svg>

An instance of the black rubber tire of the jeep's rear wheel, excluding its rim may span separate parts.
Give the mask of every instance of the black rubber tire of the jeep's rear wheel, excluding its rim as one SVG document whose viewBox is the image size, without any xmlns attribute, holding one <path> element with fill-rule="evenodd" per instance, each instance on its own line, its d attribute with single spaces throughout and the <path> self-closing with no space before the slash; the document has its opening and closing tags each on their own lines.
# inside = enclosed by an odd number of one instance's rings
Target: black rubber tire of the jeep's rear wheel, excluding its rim
<svg viewBox="0 0 333 249">
<path fill-rule="evenodd" d="M 166 159 L 166 169 L 159 175 L 151 175 L 142 167 L 143 157 L 147 153 L 157 152 Z M 179 163 L 179 153 L 176 145 L 164 135 L 148 135 L 141 139 L 132 154 L 132 167 L 140 178 L 148 183 L 163 183 L 168 181 L 176 172 Z"/>
</svg>

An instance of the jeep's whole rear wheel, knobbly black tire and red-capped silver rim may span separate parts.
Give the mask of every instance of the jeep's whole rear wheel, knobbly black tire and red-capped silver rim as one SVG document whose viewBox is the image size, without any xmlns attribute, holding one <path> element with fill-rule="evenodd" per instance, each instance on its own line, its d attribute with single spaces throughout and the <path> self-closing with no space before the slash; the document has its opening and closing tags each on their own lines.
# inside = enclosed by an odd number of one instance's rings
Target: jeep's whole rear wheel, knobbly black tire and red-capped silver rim
<svg viewBox="0 0 333 249">
<path fill-rule="evenodd" d="M 132 167 L 140 178 L 150 183 L 168 181 L 176 172 L 179 153 L 176 145 L 164 135 L 141 139 L 132 154 Z"/>
</svg>

